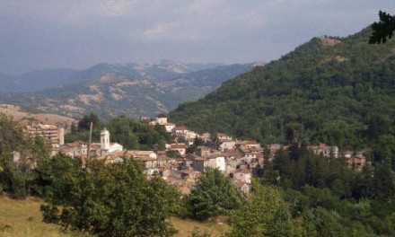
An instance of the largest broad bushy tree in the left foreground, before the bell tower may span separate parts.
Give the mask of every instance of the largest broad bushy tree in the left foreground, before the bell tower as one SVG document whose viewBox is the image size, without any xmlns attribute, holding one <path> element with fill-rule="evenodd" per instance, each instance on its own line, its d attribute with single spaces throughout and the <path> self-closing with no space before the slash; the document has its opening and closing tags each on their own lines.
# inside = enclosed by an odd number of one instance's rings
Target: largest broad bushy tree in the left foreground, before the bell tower
<svg viewBox="0 0 395 237">
<path fill-rule="evenodd" d="M 60 155 L 51 165 L 55 172 L 41 206 L 45 222 L 95 236 L 176 233 L 166 219 L 178 212 L 180 193 L 160 178 L 148 180 L 141 162 L 93 160 L 82 168 L 75 159 Z"/>
</svg>

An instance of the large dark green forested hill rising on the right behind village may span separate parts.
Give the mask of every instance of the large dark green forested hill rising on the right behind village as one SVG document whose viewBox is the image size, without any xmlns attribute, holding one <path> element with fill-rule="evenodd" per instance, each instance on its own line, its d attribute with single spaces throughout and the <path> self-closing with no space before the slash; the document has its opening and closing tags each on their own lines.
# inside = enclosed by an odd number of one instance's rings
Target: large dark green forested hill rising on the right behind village
<svg viewBox="0 0 395 237">
<path fill-rule="evenodd" d="M 285 127 L 298 126 L 309 143 L 362 146 L 395 138 L 395 40 L 369 45 L 369 35 L 366 29 L 313 38 L 204 99 L 181 104 L 170 118 L 268 143 L 285 141 Z"/>
</svg>

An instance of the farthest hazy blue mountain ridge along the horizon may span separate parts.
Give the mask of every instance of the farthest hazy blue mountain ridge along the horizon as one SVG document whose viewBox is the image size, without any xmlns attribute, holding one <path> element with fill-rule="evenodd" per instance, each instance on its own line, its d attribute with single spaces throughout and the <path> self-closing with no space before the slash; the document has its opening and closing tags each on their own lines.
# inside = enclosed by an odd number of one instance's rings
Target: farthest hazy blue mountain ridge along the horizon
<svg viewBox="0 0 395 237">
<path fill-rule="evenodd" d="M 103 73 L 118 72 L 131 77 L 148 77 L 154 81 L 170 80 L 184 73 L 205 69 L 213 69 L 223 64 L 183 64 L 162 59 L 158 63 L 101 63 L 86 69 L 75 70 L 69 68 L 55 68 L 37 70 L 22 75 L 5 75 L 0 73 L 0 92 L 40 92 L 54 86 L 67 83 L 82 83 L 100 77 Z M 171 69 L 173 71 L 171 71 Z"/>
</svg>

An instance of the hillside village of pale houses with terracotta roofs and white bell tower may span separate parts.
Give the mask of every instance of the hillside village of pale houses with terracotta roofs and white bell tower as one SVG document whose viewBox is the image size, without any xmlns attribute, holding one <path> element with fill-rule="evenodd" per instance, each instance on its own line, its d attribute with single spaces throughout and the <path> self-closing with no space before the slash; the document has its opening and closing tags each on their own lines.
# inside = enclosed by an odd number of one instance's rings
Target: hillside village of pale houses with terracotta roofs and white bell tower
<svg viewBox="0 0 395 237">
<path fill-rule="evenodd" d="M 170 123 L 164 117 L 150 119 L 147 122 L 151 126 L 163 126 L 171 137 L 174 137 L 173 143 L 166 144 L 164 151 L 157 148 L 148 151 L 124 149 L 123 145 L 111 143 L 110 131 L 105 127 L 101 130 L 100 143 L 88 145 L 81 140 L 65 143 L 65 129 L 62 127 L 39 121 L 31 121 L 24 126 L 30 134 L 43 136 L 49 141 L 52 145 L 51 155 L 61 153 L 83 160 L 92 157 L 106 163 L 122 162 L 124 157 L 134 157 L 144 162 L 145 174 L 148 178 L 159 175 L 163 180 L 180 189 L 183 194 L 189 194 L 200 174 L 207 168 L 224 172 L 240 192 L 248 193 L 251 179 L 257 174 L 258 169 L 264 166 L 265 159 L 271 162 L 278 150 L 288 148 L 279 144 L 262 147 L 255 140 L 238 140 L 224 133 L 198 134 L 188 127 Z M 195 145 L 192 151 L 189 148 L 195 144 L 196 139 L 203 141 L 205 145 Z M 265 149 L 266 153 L 264 153 Z M 309 145 L 307 149 L 312 154 L 323 157 L 339 158 L 340 156 L 338 146 Z M 347 159 L 349 169 L 362 171 L 366 165 L 363 152 L 346 152 L 343 156 Z"/>
</svg>

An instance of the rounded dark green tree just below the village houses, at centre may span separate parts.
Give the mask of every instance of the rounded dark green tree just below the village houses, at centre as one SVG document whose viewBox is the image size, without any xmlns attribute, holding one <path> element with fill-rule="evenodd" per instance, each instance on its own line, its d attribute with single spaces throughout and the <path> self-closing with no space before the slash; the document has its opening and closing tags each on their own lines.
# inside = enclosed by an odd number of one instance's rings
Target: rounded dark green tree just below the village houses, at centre
<svg viewBox="0 0 395 237">
<path fill-rule="evenodd" d="M 231 180 L 216 169 L 206 169 L 187 197 L 189 213 L 198 220 L 226 215 L 229 210 L 238 208 L 240 201 Z"/>
</svg>

